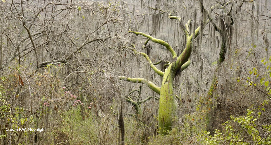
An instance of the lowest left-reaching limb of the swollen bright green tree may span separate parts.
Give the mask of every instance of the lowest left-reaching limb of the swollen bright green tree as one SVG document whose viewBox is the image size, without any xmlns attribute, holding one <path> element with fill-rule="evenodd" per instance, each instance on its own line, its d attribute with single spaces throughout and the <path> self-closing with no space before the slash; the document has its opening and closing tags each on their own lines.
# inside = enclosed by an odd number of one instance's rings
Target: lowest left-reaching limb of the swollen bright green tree
<svg viewBox="0 0 271 145">
<path fill-rule="evenodd" d="M 123 77 L 123 76 L 119 76 L 119 80 L 122 81 L 129 81 L 132 83 L 140 83 L 140 84 L 146 84 L 149 86 L 150 89 L 152 89 L 154 92 L 156 92 L 157 94 L 160 95 L 160 90 L 161 88 L 156 86 L 153 82 L 148 81 L 147 79 L 144 78 L 132 78 L 132 77 Z"/>
</svg>

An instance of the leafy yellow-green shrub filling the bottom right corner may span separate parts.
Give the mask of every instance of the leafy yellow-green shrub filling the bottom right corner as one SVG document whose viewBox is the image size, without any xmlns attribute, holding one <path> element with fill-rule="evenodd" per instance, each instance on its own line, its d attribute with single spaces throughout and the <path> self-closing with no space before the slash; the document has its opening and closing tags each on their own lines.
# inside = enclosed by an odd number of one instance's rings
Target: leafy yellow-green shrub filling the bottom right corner
<svg viewBox="0 0 271 145">
<path fill-rule="evenodd" d="M 263 102 L 257 109 L 248 108 L 246 116 L 231 116 L 231 121 L 222 124 L 223 131 L 216 129 L 213 136 L 209 136 L 210 132 L 205 131 L 198 136 L 198 141 L 201 144 L 271 144 L 271 125 L 258 124 L 262 112 L 265 111 L 265 104 L 268 104 L 268 101 Z M 236 127 L 235 123 L 239 124 L 240 128 Z"/>
</svg>

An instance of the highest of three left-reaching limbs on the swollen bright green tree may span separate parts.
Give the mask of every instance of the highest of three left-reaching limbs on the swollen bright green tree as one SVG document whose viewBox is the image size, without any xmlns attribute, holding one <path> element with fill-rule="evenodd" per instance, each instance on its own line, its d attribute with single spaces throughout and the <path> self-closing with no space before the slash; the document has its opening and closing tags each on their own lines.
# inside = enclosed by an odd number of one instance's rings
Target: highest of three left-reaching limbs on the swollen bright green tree
<svg viewBox="0 0 271 145">
<path fill-rule="evenodd" d="M 170 51 L 170 53 L 172 54 L 173 58 L 174 58 L 174 57 L 177 57 L 177 53 L 174 51 L 174 49 L 173 49 L 166 41 L 163 41 L 163 40 L 161 40 L 161 39 L 154 38 L 154 37 L 152 37 L 152 36 L 150 36 L 150 35 L 147 35 L 147 34 L 145 34 L 145 33 L 142 33 L 142 32 L 136 32 L 136 31 L 128 31 L 128 32 L 129 32 L 129 33 L 134 33 L 134 34 L 136 34 L 136 35 L 142 35 L 142 36 L 144 36 L 144 37 L 146 37 L 146 38 L 149 38 L 149 40 L 151 40 L 151 41 L 154 42 L 154 43 L 158 43 L 158 44 L 161 44 L 161 45 L 165 46 L 165 47 Z M 147 41 L 146 41 L 146 42 L 147 42 Z"/>
</svg>

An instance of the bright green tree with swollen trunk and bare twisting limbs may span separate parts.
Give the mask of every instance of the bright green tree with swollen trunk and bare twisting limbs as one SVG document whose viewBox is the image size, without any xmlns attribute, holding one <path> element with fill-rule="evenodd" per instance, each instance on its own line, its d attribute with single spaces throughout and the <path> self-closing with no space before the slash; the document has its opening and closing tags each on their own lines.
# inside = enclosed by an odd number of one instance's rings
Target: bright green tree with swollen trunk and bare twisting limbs
<svg viewBox="0 0 271 145">
<path fill-rule="evenodd" d="M 165 72 L 163 72 L 154 66 L 154 64 L 152 63 L 152 61 L 150 60 L 149 56 L 146 53 L 137 52 L 135 50 L 135 46 L 133 45 L 132 50 L 134 54 L 145 57 L 146 60 L 149 62 L 150 67 L 154 70 L 154 72 L 160 75 L 161 77 L 163 77 L 161 87 L 156 86 L 154 83 L 144 78 L 131 78 L 131 77 L 119 76 L 119 79 L 123 81 L 146 84 L 147 86 L 149 86 L 150 89 L 152 89 L 154 92 L 160 95 L 159 109 L 158 109 L 158 127 L 159 127 L 160 135 L 167 135 L 173 127 L 173 121 L 174 121 L 175 112 L 176 112 L 174 90 L 173 90 L 173 80 L 179 71 L 183 71 L 190 65 L 191 63 L 190 56 L 191 56 L 191 51 L 192 51 L 193 39 L 195 39 L 200 32 L 200 27 L 198 27 L 195 30 L 195 32 L 190 32 L 189 24 L 191 22 L 191 19 L 189 19 L 187 23 L 184 25 L 180 17 L 172 16 L 171 14 L 169 14 L 168 18 L 176 19 L 181 25 L 181 28 L 184 31 L 184 34 L 186 36 L 186 48 L 179 56 L 177 56 L 177 53 L 175 52 L 175 50 L 167 42 L 161 39 L 156 39 L 142 32 L 129 31 L 129 33 L 134 33 L 136 35 L 142 35 L 146 37 L 147 40 L 145 42 L 145 46 L 147 45 L 149 41 L 152 41 L 154 43 L 158 43 L 165 46 L 170 51 L 172 55 L 172 61 L 167 63 L 168 68 L 165 69 Z M 203 26 L 205 26 L 207 22 L 208 21 L 206 21 Z"/>
</svg>

